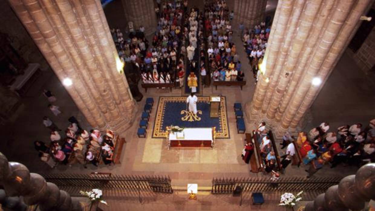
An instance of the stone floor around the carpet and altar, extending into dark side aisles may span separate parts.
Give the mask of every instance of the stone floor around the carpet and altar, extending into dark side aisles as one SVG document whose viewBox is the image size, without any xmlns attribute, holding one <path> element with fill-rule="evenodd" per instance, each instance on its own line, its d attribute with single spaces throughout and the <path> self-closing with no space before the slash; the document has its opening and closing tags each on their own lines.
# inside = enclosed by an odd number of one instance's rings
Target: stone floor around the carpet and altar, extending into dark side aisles
<svg viewBox="0 0 375 211">
<path fill-rule="evenodd" d="M 121 1 L 114 1 L 114 3 L 114 5 L 118 5 L 121 4 Z M 197 5 L 201 4 L 197 3 Z M 111 6 L 111 4 L 106 9 L 113 7 L 118 10 L 117 6 Z M 108 11 L 106 10 L 106 12 Z M 107 16 L 109 22 L 113 21 L 111 17 L 116 19 L 115 15 Z M 117 21 L 119 20 L 117 19 Z M 252 74 L 249 72 L 248 60 L 242 49 L 240 37 L 237 34 L 234 36 L 234 43 L 236 43 L 240 60 L 243 64 L 242 68 L 245 71 L 247 85 L 243 87 L 243 90 L 240 90 L 239 87 L 218 87 L 215 90 L 212 86 L 203 90 L 204 96 L 222 94 L 226 96 L 227 100 L 231 138 L 218 139 L 215 150 L 196 148 L 167 150 L 165 139 L 151 138 L 156 109 L 153 109 L 151 113 L 147 137 L 138 138 L 136 129 L 138 128 L 139 117 L 141 116 L 141 109 L 139 109 L 134 124 L 124 134 L 121 134 L 122 137 L 126 138 L 127 143 L 124 145 L 120 165 L 102 165 L 99 168 L 89 165 L 87 169 L 84 169 L 83 166 L 76 164 L 72 166 L 59 165 L 55 169 L 50 169 L 49 166 L 39 160 L 37 152 L 33 148 L 33 141 L 35 140 L 49 142 L 49 130 L 43 126 L 42 117 L 44 115 L 48 116 L 58 127 L 65 129 L 68 126 L 68 118 L 74 115 L 80 120 L 85 129 L 89 130 L 91 128 L 54 73 L 43 72 L 40 79 L 35 82 L 35 85 L 27 93 L 27 96 L 22 99 L 25 109 L 19 115 L 20 117 L 17 121 L 0 128 L 1 134 L 3 134 L 2 141 L 0 142 L 0 151 L 10 161 L 24 163 L 30 171 L 43 174 L 111 172 L 113 174 L 169 175 L 174 186 L 186 186 L 187 183 L 198 183 L 199 186 L 211 186 L 213 177 L 269 177 L 269 175 L 263 175 L 262 173 L 250 173 L 249 166 L 240 157 L 244 144 L 244 135 L 237 134 L 232 105 L 234 102 L 241 102 L 244 106 L 246 102 L 249 102 L 252 99 L 255 84 Z M 332 129 L 344 123 L 353 124 L 355 122 L 362 122 L 366 125 L 366 122 L 374 118 L 375 115 L 374 81 L 374 78 L 367 78 L 359 70 L 354 61 L 348 55 L 344 54 L 313 103 L 311 107 L 313 119 L 306 126 L 305 130 L 309 130 L 321 121 L 330 122 Z M 52 112 L 47 108 L 47 99 L 42 96 L 43 88 L 51 90 L 57 96 L 57 102 L 54 104 L 61 107 L 63 114 L 58 117 L 52 115 Z M 173 89 L 172 92 L 161 89 L 149 89 L 147 93 L 141 90 L 141 92 L 144 94 L 144 98 L 138 103 L 139 108 L 143 107 L 146 97 L 154 97 L 157 101 L 159 96 L 179 96 L 181 94 L 179 88 Z M 245 118 L 245 121 L 247 123 L 247 132 L 253 130 L 257 124 L 247 118 Z M 284 154 L 281 150 L 279 152 Z M 300 168 L 289 166 L 286 174 L 282 175 L 282 177 L 305 176 L 305 171 L 303 171 L 305 168 L 304 166 Z M 355 168 L 338 166 L 335 169 L 330 169 L 329 166 L 325 166 L 316 176 L 344 176 L 353 174 L 355 171 Z M 240 208 L 238 205 L 235 205 L 239 203 L 236 201 L 237 199 L 233 199 L 235 202 L 228 202 L 226 201 L 228 198 L 215 198 L 216 196 L 210 195 L 204 196 L 207 198 L 198 198 L 198 201 L 193 202 L 188 202 L 186 195 L 168 197 L 174 198 L 173 204 L 165 205 L 167 207 L 163 210 L 191 210 L 190 207 L 192 210 L 270 210 L 270 207 L 267 207 L 268 205 L 263 205 L 262 207 L 246 205 Z M 168 197 L 162 200 L 168 200 Z M 209 198 L 211 199 L 204 200 Z M 274 199 L 275 203 L 273 204 L 276 204 L 278 200 Z M 249 201 L 245 202 L 249 204 Z M 162 204 L 162 202 L 160 203 Z M 131 208 L 132 206 L 130 204 L 127 210 L 135 210 L 135 208 Z M 134 204 L 134 206 L 138 205 Z M 155 210 L 155 208 L 152 208 L 152 203 L 141 206 L 143 206 L 142 209 Z M 275 206 L 272 208 L 272 210 L 278 209 L 280 208 Z"/>
</svg>

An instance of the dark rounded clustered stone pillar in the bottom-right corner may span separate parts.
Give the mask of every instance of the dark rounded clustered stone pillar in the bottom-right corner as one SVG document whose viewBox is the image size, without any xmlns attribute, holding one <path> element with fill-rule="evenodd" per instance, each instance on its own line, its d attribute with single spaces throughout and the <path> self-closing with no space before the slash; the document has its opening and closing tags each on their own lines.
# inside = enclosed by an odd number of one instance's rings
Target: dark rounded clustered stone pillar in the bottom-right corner
<svg viewBox="0 0 375 211">
<path fill-rule="evenodd" d="M 356 175 L 342 178 L 339 185 L 331 186 L 306 204 L 304 211 L 363 210 L 365 201 L 375 200 L 375 163 L 358 169 Z"/>
</svg>

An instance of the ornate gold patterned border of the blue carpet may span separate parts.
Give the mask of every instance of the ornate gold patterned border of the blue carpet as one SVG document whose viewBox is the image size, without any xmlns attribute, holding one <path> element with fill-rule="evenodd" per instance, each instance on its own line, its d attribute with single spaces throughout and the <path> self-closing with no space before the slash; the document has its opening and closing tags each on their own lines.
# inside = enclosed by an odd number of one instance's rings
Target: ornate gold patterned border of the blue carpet
<svg viewBox="0 0 375 211">
<path fill-rule="evenodd" d="M 166 138 L 167 132 L 161 130 L 163 123 L 163 115 L 165 112 L 165 102 L 175 101 L 185 101 L 186 97 L 159 97 L 159 102 L 157 103 L 156 116 L 154 120 L 154 127 L 152 130 L 152 138 Z M 199 97 L 199 101 L 210 102 L 210 97 Z M 161 112 L 160 112 L 161 111 Z M 226 112 L 226 97 L 222 96 L 220 100 L 220 127 L 221 131 L 216 132 L 216 138 L 230 138 L 229 125 L 228 125 L 228 115 Z"/>
</svg>

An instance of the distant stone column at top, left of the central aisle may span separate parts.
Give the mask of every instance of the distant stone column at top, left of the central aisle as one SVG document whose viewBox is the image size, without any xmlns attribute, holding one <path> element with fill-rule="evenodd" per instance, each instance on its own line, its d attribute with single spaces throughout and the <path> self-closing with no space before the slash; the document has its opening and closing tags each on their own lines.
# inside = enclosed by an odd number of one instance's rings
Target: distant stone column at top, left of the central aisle
<svg viewBox="0 0 375 211">
<path fill-rule="evenodd" d="M 153 0 L 122 0 L 126 21 L 132 21 L 134 30 L 141 25 L 145 28 L 145 34 L 155 32 L 157 19 Z"/>
</svg>

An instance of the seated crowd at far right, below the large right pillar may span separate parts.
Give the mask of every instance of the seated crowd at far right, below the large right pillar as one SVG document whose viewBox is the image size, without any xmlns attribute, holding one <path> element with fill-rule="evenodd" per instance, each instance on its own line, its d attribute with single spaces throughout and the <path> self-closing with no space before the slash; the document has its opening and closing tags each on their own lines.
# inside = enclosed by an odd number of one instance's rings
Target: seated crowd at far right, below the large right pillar
<svg viewBox="0 0 375 211">
<path fill-rule="evenodd" d="M 338 127 L 336 131 L 329 131 L 329 129 L 328 123 L 321 123 L 309 133 L 300 132 L 297 140 L 288 133 L 283 137 L 281 143 L 283 148 L 291 144 L 291 141 L 295 141 L 302 162 L 305 165 L 311 163 L 310 168 L 306 170 L 309 173 L 308 177 L 326 164 L 330 164 L 331 168 L 335 168 L 340 163 L 360 167 L 367 162 L 374 162 L 375 119 L 371 120 L 364 129 L 361 123 L 344 125 Z M 295 150 L 293 148 L 293 154 Z"/>
</svg>

